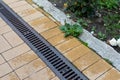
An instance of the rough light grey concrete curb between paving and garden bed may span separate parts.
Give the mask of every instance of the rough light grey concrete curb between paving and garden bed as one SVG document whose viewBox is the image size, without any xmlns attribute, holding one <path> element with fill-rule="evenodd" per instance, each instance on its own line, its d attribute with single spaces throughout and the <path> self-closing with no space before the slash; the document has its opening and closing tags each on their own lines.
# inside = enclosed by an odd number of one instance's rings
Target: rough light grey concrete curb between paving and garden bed
<svg viewBox="0 0 120 80">
<path fill-rule="evenodd" d="M 72 20 L 68 19 L 62 11 L 54 7 L 48 0 L 33 0 L 33 2 L 40 7 L 43 7 L 46 12 L 52 15 L 61 24 L 64 24 L 65 20 L 67 23 L 74 23 Z M 95 50 L 100 56 L 109 59 L 120 71 L 120 53 L 116 52 L 106 43 L 92 36 L 92 34 L 90 34 L 87 30 L 84 30 L 84 33 L 79 38 L 88 43 L 88 46 Z"/>
</svg>

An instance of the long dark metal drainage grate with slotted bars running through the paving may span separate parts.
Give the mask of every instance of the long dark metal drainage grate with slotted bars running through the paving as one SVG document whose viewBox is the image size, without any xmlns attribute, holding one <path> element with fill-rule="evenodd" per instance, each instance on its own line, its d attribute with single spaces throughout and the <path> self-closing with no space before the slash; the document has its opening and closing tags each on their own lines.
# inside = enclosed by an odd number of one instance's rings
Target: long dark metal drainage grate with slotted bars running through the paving
<svg viewBox="0 0 120 80">
<path fill-rule="evenodd" d="M 88 80 L 2 1 L 0 1 L 0 15 L 61 80 Z"/>
</svg>

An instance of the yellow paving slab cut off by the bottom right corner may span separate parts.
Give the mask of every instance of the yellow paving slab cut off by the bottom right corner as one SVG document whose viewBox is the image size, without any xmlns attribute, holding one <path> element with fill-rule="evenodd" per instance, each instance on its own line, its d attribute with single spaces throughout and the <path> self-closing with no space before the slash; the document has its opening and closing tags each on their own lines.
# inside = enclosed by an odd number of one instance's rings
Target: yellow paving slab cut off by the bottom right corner
<svg viewBox="0 0 120 80">
<path fill-rule="evenodd" d="M 96 80 L 120 80 L 120 72 L 112 68 Z"/>
</svg>

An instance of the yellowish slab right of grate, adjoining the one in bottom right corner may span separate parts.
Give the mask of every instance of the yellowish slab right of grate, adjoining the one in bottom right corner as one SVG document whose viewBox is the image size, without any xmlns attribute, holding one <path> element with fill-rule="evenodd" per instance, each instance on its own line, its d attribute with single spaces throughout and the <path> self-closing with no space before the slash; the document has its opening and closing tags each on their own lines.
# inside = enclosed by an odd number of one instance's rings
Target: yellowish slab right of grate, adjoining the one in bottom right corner
<svg viewBox="0 0 120 80">
<path fill-rule="evenodd" d="M 97 77 L 107 72 L 111 68 L 112 66 L 106 63 L 104 60 L 100 60 L 96 62 L 95 64 L 91 65 L 90 67 L 88 67 L 86 70 L 84 70 L 83 73 L 90 80 L 95 80 Z"/>
</svg>

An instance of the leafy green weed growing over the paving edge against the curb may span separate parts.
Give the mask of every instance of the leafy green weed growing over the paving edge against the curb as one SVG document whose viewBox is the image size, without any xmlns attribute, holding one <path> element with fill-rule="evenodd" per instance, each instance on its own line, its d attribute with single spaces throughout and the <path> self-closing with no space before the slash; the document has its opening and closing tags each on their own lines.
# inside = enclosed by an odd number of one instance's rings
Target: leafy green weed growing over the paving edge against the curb
<svg viewBox="0 0 120 80">
<path fill-rule="evenodd" d="M 78 38 L 80 34 L 83 33 L 83 28 L 79 24 L 68 24 L 60 26 L 60 30 L 65 33 L 65 37 L 73 36 Z"/>
</svg>

